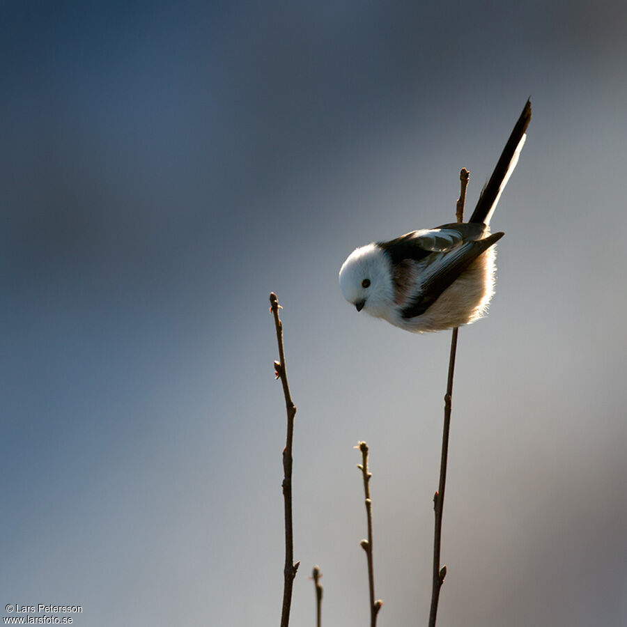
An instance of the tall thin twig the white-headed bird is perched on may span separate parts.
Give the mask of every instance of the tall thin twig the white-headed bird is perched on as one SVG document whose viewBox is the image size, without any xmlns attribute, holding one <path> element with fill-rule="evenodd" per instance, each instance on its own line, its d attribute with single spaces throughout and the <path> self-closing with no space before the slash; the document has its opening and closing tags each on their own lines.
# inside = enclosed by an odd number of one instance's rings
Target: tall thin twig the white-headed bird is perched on
<svg viewBox="0 0 627 627">
<path fill-rule="evenodd" d="M 466 199 L 466 187 L 470 173 L 462 168 L 459 173 L 461 181 L 459 199 L 456 206 L 457 222 L 464 220 L 464 203 Z M 444 396 L 444 429 L 442 431 L 442 458 L 440 459 L 440 485 L 433 495 L 433 509 L 435 510 L 435 533 L 433 534 L 433 587 L 431 589 L 431 612 L 429 613 L 429 627 L 435 627 L 435 619 L 438 615 L 438 601 L 440 600 L 440 588 L 447 575 L 447 567 L 440 568 L 440 545 L 442 543 L 442 511 L 444 510 L 444 489 L 447 485 L 447 460 L 449 457 L 449 428 L 451 426 L 451 401 L 453 398 L 453 374 L 455 371 L 455 354 L 457 351 L 458 327 L 453 330 L 451 337 L 451 355 L 449 357 L 449 377 L 447 381 L 447 394 Z"/>
</svg>

